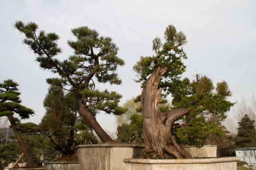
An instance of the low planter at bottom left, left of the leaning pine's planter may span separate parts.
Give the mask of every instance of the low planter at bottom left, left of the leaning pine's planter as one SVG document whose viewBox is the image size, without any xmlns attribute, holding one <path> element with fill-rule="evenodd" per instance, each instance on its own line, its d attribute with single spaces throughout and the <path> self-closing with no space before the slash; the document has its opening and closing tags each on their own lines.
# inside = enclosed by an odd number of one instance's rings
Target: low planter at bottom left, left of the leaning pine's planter
<svg viewBox="0 0 256 170">
<path fill-rule="evenodd" d="M 45 161 L 45 170 L 80 170 L 79 161 Z"/>
</svg>

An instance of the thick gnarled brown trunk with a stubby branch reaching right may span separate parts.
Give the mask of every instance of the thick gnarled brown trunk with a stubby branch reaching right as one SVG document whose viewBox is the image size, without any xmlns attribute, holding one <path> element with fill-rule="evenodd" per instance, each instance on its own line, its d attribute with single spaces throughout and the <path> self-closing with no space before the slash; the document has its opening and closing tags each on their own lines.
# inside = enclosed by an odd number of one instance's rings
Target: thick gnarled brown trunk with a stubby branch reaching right
<svg viewBox="0 0 256 170">
<path fill-rule="evenodd" d="M 162 88 L 158 89 L 158 85 L 167 70 L 167 67 L 156 68 L 141 94 L 145 143 L 143 156 L 152 159 L 191 158 L 189 153 L 176 143 L 172 135 L 174 122 L 188 114 L 189 108 L 169 110 L 165 113 L 158 110 L 157 105 L 162 91 Z"/>
</svg>

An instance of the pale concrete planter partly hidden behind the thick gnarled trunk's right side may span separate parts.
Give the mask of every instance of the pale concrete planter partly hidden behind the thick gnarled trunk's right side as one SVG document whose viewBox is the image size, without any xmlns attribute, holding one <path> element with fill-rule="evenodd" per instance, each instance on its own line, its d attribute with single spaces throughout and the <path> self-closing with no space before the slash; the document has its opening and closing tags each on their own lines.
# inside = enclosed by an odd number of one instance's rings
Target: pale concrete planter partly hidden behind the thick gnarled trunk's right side
<svg viewBox="0 0 256 170">
<path fill-rule="evenodd" d="M 183 148 L 194 158 L 215 158 L 217 157 L 218 145 L 204 145 L 201 148 L 183 146 Z"/>
</svg>

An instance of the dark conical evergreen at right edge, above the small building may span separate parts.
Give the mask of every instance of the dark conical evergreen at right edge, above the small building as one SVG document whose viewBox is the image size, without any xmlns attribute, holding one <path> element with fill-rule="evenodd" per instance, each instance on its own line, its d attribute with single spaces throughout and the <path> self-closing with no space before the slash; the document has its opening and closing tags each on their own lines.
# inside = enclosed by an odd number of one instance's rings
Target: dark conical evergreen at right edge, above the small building
<svg viewBox="0 0 256 170">
<path fill-rule="evenodd" d="M 246 114 L 238 123 L 238 135 L 235 137 L 236 148 L 256 147 L 255 120 L 251 120 Z"/>
</svg>

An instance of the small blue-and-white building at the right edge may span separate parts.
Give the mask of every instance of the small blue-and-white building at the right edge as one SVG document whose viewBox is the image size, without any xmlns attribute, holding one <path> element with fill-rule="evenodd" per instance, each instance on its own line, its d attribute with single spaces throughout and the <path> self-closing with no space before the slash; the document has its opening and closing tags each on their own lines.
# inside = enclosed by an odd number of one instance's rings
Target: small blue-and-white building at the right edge
<svg viewBox="0 0 256 170">
<path fill-rule="evenodd" d="M 256 165 L 256 147 L 234 149 L 240 161 L 246 161 L 249 166 Z"/>
</svg>

